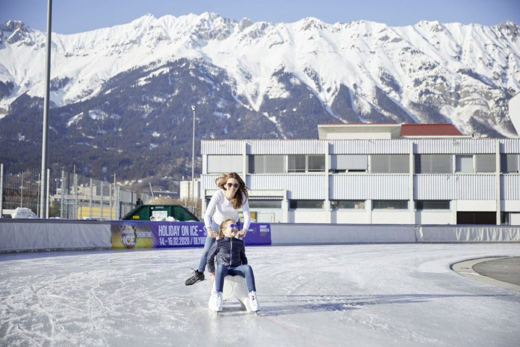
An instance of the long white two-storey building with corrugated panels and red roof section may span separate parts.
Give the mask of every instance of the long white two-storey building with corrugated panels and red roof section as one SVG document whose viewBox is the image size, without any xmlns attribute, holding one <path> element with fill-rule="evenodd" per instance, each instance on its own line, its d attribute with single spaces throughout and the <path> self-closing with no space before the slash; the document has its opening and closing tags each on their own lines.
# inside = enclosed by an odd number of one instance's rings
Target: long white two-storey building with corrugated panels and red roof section
<svg viewBox="0 0 520 347">
<path fill-rule="evenodd" d="M 235 171 L 258 222 L 520 225 L 520 139 L 451 124 L 321 124 L 318 139 L 203 140 L 201 197 Z"/>
</svg>

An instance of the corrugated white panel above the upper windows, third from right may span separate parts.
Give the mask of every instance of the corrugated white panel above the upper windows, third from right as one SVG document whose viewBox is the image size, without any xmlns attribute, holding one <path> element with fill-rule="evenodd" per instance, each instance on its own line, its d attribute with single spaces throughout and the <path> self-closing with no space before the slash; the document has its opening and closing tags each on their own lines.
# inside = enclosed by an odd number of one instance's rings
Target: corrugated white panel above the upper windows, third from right
<svg viewBox="0 0 520 347">
<path fill-rule="evenodd" d="M 409 139 L 329 140 L 330 154 L 408 154 Z"/>
</svg>

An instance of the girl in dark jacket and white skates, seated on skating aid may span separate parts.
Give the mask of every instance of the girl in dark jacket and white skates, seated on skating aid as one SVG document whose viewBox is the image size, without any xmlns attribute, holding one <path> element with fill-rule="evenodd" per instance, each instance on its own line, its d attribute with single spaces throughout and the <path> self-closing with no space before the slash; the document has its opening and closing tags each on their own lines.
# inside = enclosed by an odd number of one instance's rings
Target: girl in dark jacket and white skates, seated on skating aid
<svg viewBox="0 0 520 347">
<path fill-rule="evenodd" d="M 253 269 L 248 265 L 248 258 L 245 256 L 244 241 L 237 239 L 238 225 L 232 219 L 226 219 L 218 227 L 218 239 L 211 246 L 207 256 L 207 270 L 215 281 L 216 295 L 213 311 L 222 311 L 222 291 L 224 289 L 224 277 L 242 276 L 249 291 L 249 301 L 251 311 L 260 311 L 260 305 L 256 298 L 255 276 Z M 216 271 L 215 271 L 216 258 Z M 214 276 L 214 277 L 213 277 Z"/>
</svg>

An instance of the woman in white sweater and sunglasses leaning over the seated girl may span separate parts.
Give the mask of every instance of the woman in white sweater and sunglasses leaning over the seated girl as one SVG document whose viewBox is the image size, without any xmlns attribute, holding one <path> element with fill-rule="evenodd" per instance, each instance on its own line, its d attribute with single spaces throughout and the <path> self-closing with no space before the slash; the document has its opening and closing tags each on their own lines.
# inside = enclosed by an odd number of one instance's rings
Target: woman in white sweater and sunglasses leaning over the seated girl
<svg viewBox="0 0 520 347">
<path fill-rule="evenodd" d="M 193 276 L 188 278 L 185 285 L 202 281 L 204 279 L 204 269 L 206 268 L 207 253 L 211 245 L 215 242 L 218 235 L 218 226 L 226 219 L 232 219 L 237 224 L 240 223 L 238 210 L 241 209 L 244 215 L 244 225 L 238 233 L 238 237 L 244 237 L 248 233 L 251 217 L 249 215 L 249 194 L 248 187 L 236 172 L 222 174 L 215 179 L 216 185 L 220 188 L 211 197 L 204 214 L 204 226 L 206 228 L 206 242 L 204 251 L 199 262 L 199 268 L 194 270 Z M 215 213 L 213 213 L 215 212 Z"/>
</svg>

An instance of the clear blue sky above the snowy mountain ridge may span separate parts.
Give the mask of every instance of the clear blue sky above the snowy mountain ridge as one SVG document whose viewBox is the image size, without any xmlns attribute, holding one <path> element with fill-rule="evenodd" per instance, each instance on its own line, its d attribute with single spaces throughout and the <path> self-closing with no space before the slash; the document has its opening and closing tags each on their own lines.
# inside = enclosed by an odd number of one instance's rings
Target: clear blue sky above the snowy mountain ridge
<svg viewBox="0 0 520 347">
<path fill-rule="evenodd" d="M 45 31 L 46 0 L 0 0 L 0 23 L 21 20 Z M 252 21 L 294 22 L 316 17 L 325 22 L 370 20 L 392 26 L 420 20 L 495 25 L 520 24 L 520 0 L 54 0 L 53 32 L 70 34 L 112 27 L 147 13 L 159 18 L 216 12 Z"/>
</svg>

